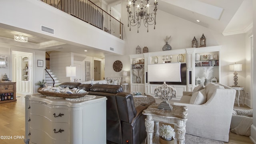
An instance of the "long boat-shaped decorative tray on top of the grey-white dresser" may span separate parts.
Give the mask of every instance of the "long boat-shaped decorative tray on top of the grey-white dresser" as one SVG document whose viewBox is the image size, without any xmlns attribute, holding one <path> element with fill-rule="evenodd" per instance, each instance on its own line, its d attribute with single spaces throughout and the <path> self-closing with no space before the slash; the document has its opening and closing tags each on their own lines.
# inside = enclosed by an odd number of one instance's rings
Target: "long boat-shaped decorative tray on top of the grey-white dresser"
<svg viewBox="0 0 256 144">
<path fill-rule="evenodd" d="M 56 92 L 46 92 L 43 90 L 37 90 L 37 92 L 46 96 L 58 96 L 62 98 L 81 98 L 89 93 L 89 92 L 84 92 L 84 93 L 78 93 L 78 94 L 65 94 L 65 93 L 56 93 Z"/>
</svg>

